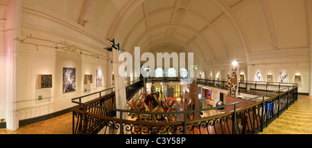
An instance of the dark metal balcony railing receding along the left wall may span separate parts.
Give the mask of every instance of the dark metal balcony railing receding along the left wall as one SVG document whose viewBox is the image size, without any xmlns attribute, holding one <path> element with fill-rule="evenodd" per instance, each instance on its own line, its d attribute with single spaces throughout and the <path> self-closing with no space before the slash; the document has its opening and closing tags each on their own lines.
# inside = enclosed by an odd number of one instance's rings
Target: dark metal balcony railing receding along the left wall
<svg viewBox="0 0 312 148">
<path fill-rule="evenodd" d="M 143 87 L 143 80 L 135 80 L 132 82 L 125 83 L 125 94 L 126 98 L 132 98 L 133 95 L 139 91 Z M 103 93 L 107 93 L 106 95 L 102 95 Z M 84 98 L 89 97 L 97 97 L 94 100 L 87 101 L 83 103 Z M 95 122 L 86 122 L 86 118 L 89 116 L 86 115 L 86 113 L 94 113 L 96 115 L 103 115 L 107 117 L 115 117 L 116 111 L 112 109 L 116 109 L 116 100 L 115 100 L 115 93 L 114 93 L 114 87 L 110 89 L 105 89 L 103 91 L 98 91 L 96 93 L 90 93 L 88 95 L 83 95 L 78 98 L 71 99 L 72 102 L 76 102 L 78 100 L 78 104 L 88 104 L 83 106 L 78 106 L 73 110 L 73 133 L 74 134 L 81 134 L 81 133 L 94 133 L 94 130 L 101 129 L 101 124 L 96 124 Z M 96 106 L 96 107 L 92 107 Z M 106 109 L 105 109 L 106 108 Z M 75 115 L 75 111 L 77 111 L 78 114 Z M 83 111 L 83 112 L 81 112 Z M 75 120 L 76 119 L 76 120 Z M 87 125 L 87 126 L 86 126 Z"/>
</svg>

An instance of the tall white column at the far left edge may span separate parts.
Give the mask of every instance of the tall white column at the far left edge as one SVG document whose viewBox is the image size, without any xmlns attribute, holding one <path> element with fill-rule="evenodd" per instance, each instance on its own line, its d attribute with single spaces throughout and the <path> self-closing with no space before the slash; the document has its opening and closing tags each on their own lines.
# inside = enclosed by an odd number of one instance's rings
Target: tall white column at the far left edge
<svg viewBox="0 0 312 148">
<path fill-rule="evenodd" d="M 19 128 L 18 115 L 18 54 L 20 36 L 22 0 L 8 1 L 6 22 L 5 50 L 6 50 L 6 128 L 16 130 Z"/>
</svg>

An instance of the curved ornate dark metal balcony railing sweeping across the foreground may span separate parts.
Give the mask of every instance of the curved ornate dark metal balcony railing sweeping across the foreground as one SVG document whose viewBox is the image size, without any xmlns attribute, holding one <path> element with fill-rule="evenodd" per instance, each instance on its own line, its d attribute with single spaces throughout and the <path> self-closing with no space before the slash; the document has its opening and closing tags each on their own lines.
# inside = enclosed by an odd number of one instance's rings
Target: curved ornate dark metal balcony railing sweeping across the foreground
<svg viewBox="0 0 312 148">
<path fill-rule="evenodd" d="M 205 80 L 207 82 L 207 80 Z M 200 82 L 200 80 L 197 80 Z M 207 84 L 207 83 L 206 83 Z M 209 84 L 209 83 L 208 83 Z M 270 88 L 270 84 L 265 87 L 262 85 L 255 86 L 253 83 L 245 83 L 246 92 L 258 92 L 266 94 L 259 95 L 257 98 L 244 100 L 226 104 L 221 107 L 212 107 L 209 109 L 201 109 L 196 111 L 179 111 L 168 113 L 146 113 L 145 115 L 164 115 L 176 114 L 180 120 L 177 122 L 141 122 L 123 119 L 123 113 L 141 113 L 138 111 L 128 111 L 109 107 L 114 100 L 114 93 L 108 94 L 94 100 L 92 102 L 72 102 L 79 104 L 73 110 L 73 134 L 91 134 L 103 131 L 103 133 L 119 133 L 119 134 L 248 134 L 259 133 L 263 128 L 268 126 L 270 122 L 278 118 L 281 113 L 286 111 L 297 100 L 297 85 L 273 85 L 273 88 L 279 88 L 277 91 Z M 259 83 L 258 83 L 259 84 Z M 222 86 L 222 85 L 220 85 Z M 282 86 L 282 87 L 281 87 Z M 241 85 L 243 88 L 243 84 Z M 243 89 L 241 89 L 242 91 Z M 250 91 L 254 90 L 254 91 Z M 266 91 L 263 91 L 266 90 Z M 257 94 L 258 94 L 257 93 Z M 269 97 L 268 99 L 265 99 Z M 261 102 L 257 102 L 248 107 L 237 109 L 237 105 L 243 102 L 252 101 L 261 98 Z M 213 115 L 207 118 L 198 118 L 190 120 L 187 117 L 189 113 L 200 111 L 219 110 L 225 107 L 234 108 L 232 111 Z M 112 117 L 112 113 L 119 113 L 120 116 Z"/>
</svg>

